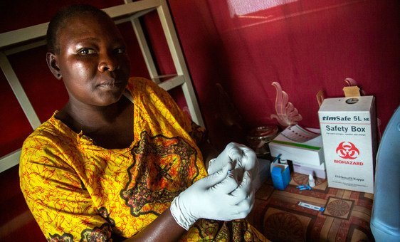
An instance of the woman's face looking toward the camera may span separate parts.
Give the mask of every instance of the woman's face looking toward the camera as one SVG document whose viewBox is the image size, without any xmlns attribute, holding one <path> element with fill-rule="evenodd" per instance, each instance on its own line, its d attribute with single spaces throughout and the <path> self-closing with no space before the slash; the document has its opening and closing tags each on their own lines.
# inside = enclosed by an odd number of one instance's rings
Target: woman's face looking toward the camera
<svg viewBox="0 0 400 242">
<path fill-rule="evenodd" d="M 70 102 L 106 106 L 117 102 L 130 75 L 125 42 L 110 19 L 77 16 L 58 30 L 56 65 Z"/>
</svg>

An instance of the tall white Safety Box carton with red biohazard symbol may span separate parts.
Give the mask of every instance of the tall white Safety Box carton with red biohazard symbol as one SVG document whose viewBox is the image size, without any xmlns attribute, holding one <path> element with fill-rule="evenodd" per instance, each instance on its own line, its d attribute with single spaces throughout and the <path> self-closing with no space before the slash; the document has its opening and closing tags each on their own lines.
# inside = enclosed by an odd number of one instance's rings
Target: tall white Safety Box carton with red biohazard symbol
<svg viewBox="0 0 400 242">
<path fill-rule="evenodd" d="M 373 193 L 377 151 L 374 97 L 327 98 L 318 116 L 328 186 Z"/>
</svg>

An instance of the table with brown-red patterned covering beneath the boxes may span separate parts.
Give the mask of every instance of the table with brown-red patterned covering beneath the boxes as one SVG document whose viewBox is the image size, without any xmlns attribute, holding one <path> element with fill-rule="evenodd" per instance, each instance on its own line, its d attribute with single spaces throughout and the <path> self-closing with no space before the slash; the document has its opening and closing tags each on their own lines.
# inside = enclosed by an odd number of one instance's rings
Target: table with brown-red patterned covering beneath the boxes
<svg viewBox="0 0 400 242">
<path fill-rule="evenodd" d="M 307 175 L 293 172 L 280 191 L 269 177 L 256 193 L 248 221 L 271 241 L 374 241 L 369 228 L 373 194 L 330 188 L 319 178 L 310 191 L 296 188 L 307 182 Z M 304 208 L 299 201 L 325 211 Z"/>
</svg>

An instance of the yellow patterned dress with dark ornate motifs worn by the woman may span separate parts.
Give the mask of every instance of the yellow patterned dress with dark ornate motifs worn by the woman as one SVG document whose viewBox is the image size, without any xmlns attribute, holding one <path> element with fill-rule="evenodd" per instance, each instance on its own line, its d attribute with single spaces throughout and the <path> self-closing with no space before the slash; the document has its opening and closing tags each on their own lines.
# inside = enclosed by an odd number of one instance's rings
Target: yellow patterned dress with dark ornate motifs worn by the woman
<svg viewBox="0 0 400 242">
<path fill-rule="evenodd" d="M 23 143 L 21 190 L 48 241 L 134 236 L 169 209 L 175 196 L 206 176 L 196 145 L 204 140 L 204 129 L 152 81 L 131 78 L 127 90 L 135 109 L 130 147 L 98 147 L 55 115 Z M 263 239 L 244 220 L 201 219 L 182 241 L 236 238 Z"/>
</svg>

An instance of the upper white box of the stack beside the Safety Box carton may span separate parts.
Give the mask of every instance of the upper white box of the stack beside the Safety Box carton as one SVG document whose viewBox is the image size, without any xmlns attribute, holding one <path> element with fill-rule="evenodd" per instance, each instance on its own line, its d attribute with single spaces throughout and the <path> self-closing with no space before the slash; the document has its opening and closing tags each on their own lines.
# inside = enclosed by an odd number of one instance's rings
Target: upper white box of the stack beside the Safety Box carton
<svg viewBox="0 0 400 242">
<path fill-rule="evenodd" d="M 301 140 L 302 142 L 296 142 L 295 140 L 300 139 L 283 135 L 290 129 L 314 135 L 314 138 L 307 141 Z M 279 154 L 282 154 L 280 159 L 291 160 L 293 164 L 305 164 L 319 167 L 324 163 L 325 159 L 322 150 L 322 138 L 319 132 L 320 130 L 317 129 L 308 128 L 305 130 L 298 125 L 290 126 L 275 137 L 275 139 L 270 141 L 269 147 L 271 156 L 277 157 Z"/>
</svg>

